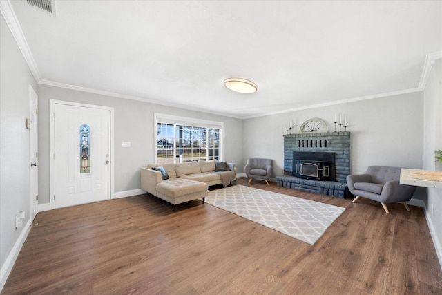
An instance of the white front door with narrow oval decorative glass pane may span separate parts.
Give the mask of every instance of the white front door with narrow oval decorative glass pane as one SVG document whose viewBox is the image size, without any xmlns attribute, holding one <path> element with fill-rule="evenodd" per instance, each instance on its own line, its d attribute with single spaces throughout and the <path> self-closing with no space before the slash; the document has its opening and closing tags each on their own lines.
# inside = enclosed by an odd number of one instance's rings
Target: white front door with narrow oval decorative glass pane
<svg viewBox="0 0 442 295">
<path fill-rule="evenodd" d="M 111 110 L 55 104 L 55 208 L 111 199 Z"/>
</svg>

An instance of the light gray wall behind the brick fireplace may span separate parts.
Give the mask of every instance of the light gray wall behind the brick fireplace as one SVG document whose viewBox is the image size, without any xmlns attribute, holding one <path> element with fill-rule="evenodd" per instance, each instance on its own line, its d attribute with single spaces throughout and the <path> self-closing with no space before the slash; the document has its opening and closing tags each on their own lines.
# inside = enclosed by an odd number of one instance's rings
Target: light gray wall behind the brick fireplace
<svg viewBox="0 0 442 295">
<path fill-rule="evenodd" d="M 334 113 L 347 115 L 351 135 L 350 173 L 369 165 L 423 167 L 423 92 L 349 102 L 244 120 L 244 154 L 272 158 L 275 175 L 284 174 L 284 142 L 290 120 L 300 124 L 314 117 L 334 131 Z"/>
</svg>

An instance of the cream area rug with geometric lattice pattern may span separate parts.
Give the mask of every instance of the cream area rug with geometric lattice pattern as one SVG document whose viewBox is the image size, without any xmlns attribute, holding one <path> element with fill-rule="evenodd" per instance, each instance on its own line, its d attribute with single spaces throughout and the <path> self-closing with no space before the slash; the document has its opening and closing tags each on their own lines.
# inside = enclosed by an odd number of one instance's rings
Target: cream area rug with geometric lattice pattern
<svg viewBox="0 0 442 295">
<path fill-rule="evenodd" d="M 244 185 L 209 191 L 206 203 L 310 245 L 345 211 L 343 207 Z"/>
</svg>

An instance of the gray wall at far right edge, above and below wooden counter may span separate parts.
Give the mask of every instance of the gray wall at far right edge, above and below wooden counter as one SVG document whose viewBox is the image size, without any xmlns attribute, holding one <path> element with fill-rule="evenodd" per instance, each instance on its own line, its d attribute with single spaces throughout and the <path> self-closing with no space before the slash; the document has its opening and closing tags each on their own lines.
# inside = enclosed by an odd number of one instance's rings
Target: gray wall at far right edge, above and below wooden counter
<svg viewBox="0 0 442 295">
<path fill-rule="evenodd" d="M 424 91 L 423 168 L 442 171 L 434 161 L 434 151 L 442 149 L 442 59 L 436 61 Z M 434 247 L 442 265 L 442 189 L 427 189 L 425 215 L 432 231 Z"/>
</svg>

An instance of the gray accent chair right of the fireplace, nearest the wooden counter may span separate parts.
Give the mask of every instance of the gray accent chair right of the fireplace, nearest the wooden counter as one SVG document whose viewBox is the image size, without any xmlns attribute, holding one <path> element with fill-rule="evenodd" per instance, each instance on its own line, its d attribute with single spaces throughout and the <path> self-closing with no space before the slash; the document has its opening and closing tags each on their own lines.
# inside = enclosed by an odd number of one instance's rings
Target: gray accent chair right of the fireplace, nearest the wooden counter
<svg viewBox="0 0 442 295">
<path fill-rule="evenodd" d="M 367 198 L 381 202 L 382 207 L 388 214 L 388 203 L 402 202 L 407 211 L 407 205 L 416 187 L 400 184 L 401 168 L 390 166 L 369 166 L 365 174 L 348 175 L 347 185 L 349 191 L 356 196 L 352 202 Z"/>
</svg>

